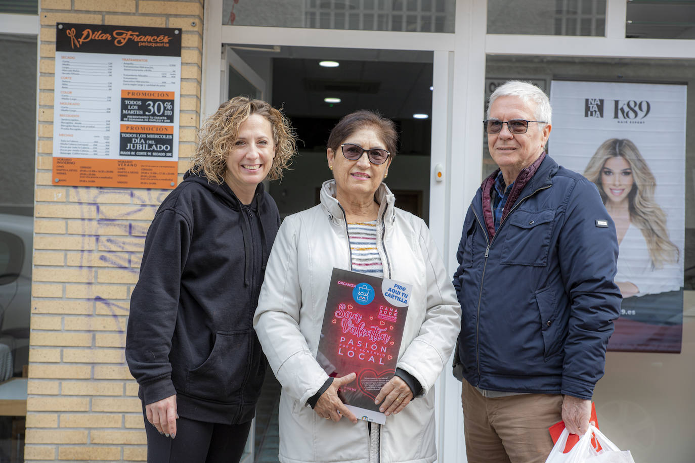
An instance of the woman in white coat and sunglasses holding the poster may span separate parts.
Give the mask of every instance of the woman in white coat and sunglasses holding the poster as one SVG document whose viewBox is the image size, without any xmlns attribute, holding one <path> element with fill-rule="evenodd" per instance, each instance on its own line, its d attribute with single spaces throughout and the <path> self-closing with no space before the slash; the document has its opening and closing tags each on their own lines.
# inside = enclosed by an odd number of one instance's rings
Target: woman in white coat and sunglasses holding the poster
<svg viewBox="0 0 695 463">
<path fill-rule="evenodd" d="M 334 180 L 322 185 L 319 205 L 285 219 L 273 244 L 254 327 L 282 385 L 281 462 L 436 460 L 434 382 L 461 308 L 430 230 L 395 208 L 382 183 L 396 140 L 393 122 L 374 112 L 343 117 L 328 140 Z M 365 241 L 375 249 L 357 244 Z M 354 373 L 329 378 L 316 361 L 334 267 L 413 285 L 395 376 L 377 396 L 383 426 L 358 421 L 338 397 Z"/>
</svg>

